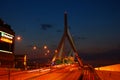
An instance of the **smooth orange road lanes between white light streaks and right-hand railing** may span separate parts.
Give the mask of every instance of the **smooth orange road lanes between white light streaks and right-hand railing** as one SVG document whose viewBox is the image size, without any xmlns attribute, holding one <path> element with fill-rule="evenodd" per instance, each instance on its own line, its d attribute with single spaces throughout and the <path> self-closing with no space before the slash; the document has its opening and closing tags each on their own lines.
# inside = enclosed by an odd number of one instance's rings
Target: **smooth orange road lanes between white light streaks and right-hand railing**
<svg viewBox="0 0 120 80">
<path fill-rule="evenodd" d="M 74 65 L 58 67 L 44 75 L 35 76 L 26 80 L 79 80 L 81 71 Z"/>
</svg>

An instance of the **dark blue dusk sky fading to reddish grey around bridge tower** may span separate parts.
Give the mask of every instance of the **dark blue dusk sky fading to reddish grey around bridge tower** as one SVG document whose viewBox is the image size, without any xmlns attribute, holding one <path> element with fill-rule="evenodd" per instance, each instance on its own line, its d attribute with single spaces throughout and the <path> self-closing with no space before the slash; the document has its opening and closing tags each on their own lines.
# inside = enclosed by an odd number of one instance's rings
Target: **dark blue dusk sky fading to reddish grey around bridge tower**
<svg viewBox="0 0 120 80">
<path fill-rule="evenodd" d="M 118 61 L 115 57 L 120 57 L 119 4 L 119 0 L 0 0 L 0 18 L 11 25 L 16 36 L 22 37 L 15 44 L 15 54 L 21 54 L 30 52 L 34 45 L 40 49 L 43 45 L 56 49 L 67 11 L 79 55 L 87 60 L 92 54 L 92 60 L 99 59 L 96 54 L 103 57 L 110 52 L 108 60 Z M 84 54 L 89 55 L 86 58 Z"/>
</svg>

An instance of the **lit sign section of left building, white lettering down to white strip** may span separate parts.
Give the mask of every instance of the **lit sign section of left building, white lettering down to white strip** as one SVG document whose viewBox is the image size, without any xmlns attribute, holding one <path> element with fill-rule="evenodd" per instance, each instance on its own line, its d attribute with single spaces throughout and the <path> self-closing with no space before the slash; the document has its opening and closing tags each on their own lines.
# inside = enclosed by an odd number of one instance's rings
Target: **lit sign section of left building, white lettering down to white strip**
<svg viewBox="0 0 120 80">
<path fill-rule="evenodd" d="M 12 53 L 14 46 L 13 39 L 13 35 L 0 31 L 0 52 Z"/>
</svg>

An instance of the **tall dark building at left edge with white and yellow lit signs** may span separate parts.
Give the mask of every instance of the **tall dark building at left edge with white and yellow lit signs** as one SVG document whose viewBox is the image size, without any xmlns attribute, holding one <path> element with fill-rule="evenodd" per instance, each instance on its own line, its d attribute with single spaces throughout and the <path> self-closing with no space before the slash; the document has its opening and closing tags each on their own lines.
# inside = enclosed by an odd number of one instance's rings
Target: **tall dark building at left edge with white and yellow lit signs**
<svg viewBox="0 0 120 80">
<path fill-rule="evenodd" d="M 15 32 L 0 19 L 0 67 L 14 67 Z"/>
</svg>

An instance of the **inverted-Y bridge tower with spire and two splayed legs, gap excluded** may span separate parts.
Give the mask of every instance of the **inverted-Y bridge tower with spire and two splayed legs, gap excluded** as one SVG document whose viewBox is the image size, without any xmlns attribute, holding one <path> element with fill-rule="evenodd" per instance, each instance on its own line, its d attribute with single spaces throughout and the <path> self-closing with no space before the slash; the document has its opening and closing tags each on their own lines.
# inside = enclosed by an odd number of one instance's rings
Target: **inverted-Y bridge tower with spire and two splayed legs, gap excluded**
<svg viewBox="0 0 120 80">
<path fill-rule="evenodd" d="M 64 13 L 64 33 L 63 33 L 63 36 L 60 40 L 60 43 L 58 45 L 58 48 L 57 50 L 55 51 L 54 53 L 54 56 L 52 58 L 52 63 L 54 63 L 58 58 L 60 60 L 63 59 L 63 55 L 66 54 L 64 53 L 64 47 L 65 47 L 65 41 L 66 39 L 68 40 L 69 44 L 70 44 L 70 47 L 71 47 L 71 50 L 73 51 L 78 63 L 79 63 L 79 66 L 83 66 L 83 63 L 81 61 L 81 58 L 78 56 L 78 52 L 77 52 L 77 49 L 75 47 L 75 44 L 74 44 L 74 41 L 73 41 L 73 38 L 69 32 L 69 28 L 68 28 L 68 24 L 67 24 L 67 12 Z"/>
</svg>

